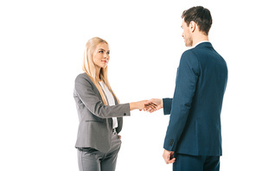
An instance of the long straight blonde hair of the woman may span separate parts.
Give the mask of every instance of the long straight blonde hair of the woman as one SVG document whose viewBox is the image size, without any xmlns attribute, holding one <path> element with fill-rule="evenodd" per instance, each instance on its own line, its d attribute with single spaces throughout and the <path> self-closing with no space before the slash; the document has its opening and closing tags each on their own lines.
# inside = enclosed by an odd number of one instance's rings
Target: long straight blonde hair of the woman
<svg viewBox="0 0 256 171">
<path fill-rule="evenodd" d="M 119 103 L 119 100 L 116 97 L 115 93 L 112 91 L 112 88 L 107 79 L 107 66 L 105 68 L 101 67 L 99 71 L 99 75 L 96 75 L 96 66 L 93 62 L 93 57 L 95 55 L 95 50 L 97 50 L 96 48 L 99 46 L 99 44 L 102 44 L 102 43 L 106 43 L 108 45 L 108 43 L 105 40 L 99 37 L 93 37 L 92 39 L 87 41 L 82 69 L 93 80 L 93 83 L 97 87 L 104 104 L 107 105 L 108 103 L 106 100 L 105 93 L 103 92 L 101 86 L 99 85 L 100 79 L 104 82 L 108 90 L 112 92 L 113 97 L 116 98 Z"/>
</svg>

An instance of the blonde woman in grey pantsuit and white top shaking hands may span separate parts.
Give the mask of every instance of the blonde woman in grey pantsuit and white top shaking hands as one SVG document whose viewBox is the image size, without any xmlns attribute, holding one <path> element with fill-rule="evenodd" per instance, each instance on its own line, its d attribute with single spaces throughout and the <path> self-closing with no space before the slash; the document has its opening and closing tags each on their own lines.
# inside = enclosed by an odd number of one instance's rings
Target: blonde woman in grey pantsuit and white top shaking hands
<svg viewBox="0 0 256 171">
<path fill-rule="evenodd" d="M 75 147 L 83 171 L 115 170 L 123 117 L 130 116 L 132 110 L 143 110 L 146 102 L 119 104 L 107 79 L 109 54 L 105 40 L 94 37 L 87 41 L 85 73 L 75 79 L 74 99 L 80 120 Z"/>
</svg>

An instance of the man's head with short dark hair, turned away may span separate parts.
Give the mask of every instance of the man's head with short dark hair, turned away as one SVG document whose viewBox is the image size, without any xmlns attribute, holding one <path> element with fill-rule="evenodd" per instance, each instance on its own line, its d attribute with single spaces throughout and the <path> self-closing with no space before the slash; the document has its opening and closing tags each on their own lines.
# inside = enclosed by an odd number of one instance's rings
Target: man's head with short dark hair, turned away
<svg viewBox="0 0 256 171">
<path fill-rule="evenodd" d="M 191 47 L 193 40 L 208 37 L 209 29 L 212 25 L 212 16 L 208 9 L 202 6 L 192 7 L 182 13 L 182 37 L 186 46 Z"/>
</svg>

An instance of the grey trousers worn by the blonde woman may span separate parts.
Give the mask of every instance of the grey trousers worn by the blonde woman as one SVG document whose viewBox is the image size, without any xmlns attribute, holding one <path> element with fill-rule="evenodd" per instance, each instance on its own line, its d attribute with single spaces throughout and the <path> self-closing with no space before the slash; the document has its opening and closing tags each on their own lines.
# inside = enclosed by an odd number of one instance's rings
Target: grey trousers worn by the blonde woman
<svg viewBox="0 0 256 171">
<path fill-rule="evenodd" d="M 118 159 L 118 151 L 121 141 L 116 131 L 112 133 L 112 147 L 102 153 L 97 149 L 83 148 L 78 149 L 78 165 L 80 171 L 114 171 Z"/>
</svg>

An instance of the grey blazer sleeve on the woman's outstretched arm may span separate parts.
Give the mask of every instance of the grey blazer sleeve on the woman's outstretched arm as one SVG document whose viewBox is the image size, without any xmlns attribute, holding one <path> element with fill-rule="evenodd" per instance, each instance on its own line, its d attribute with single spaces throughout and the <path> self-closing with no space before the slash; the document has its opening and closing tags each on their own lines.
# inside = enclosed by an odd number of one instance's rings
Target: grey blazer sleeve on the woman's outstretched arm
<svg viewBox="0 0 256 171">
<path fill-rule="evenodd" d="M 81 102 L 93 115 L 100 118 L 130 116 L 130 104 L 105 105 L 101 98 L 93 91 L 97 89 L 83 74 L 75 79 L 74 90 Z M 97 90 L 98 91 L 98 90 Z"/>
</svg>

